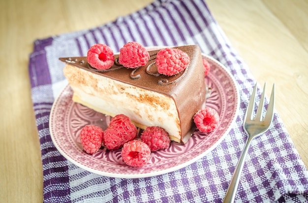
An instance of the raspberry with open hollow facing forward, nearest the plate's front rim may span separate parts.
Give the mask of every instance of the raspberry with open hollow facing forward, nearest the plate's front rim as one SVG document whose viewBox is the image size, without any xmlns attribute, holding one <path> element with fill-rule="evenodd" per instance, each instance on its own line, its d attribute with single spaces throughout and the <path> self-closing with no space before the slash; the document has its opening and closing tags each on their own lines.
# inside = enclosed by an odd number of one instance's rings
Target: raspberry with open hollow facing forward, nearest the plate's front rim
<svg viewBox="0 0 308 203">
<path fill-rule="evenodd" d="M 151 150 L 146 143 L 132 140 L 124 144 L 121 154 L 127 165 L 141 167 L 149 162 Z"/>
</svg>

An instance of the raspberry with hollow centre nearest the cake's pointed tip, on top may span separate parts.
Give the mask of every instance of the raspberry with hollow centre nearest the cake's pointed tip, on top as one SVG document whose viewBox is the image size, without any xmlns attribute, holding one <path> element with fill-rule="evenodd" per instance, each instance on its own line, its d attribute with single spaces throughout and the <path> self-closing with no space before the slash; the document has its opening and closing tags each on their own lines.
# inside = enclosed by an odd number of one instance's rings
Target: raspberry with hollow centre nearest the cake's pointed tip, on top
<svg viewBox="0 0 308 203">
<path fill-rule="evenodd" d="M 115 56 L 110 47 L 103 44 L 93 45 L 88 53 L 88 63 L 98 70 L 109 69 L 114 63 Z"/>
</svg>

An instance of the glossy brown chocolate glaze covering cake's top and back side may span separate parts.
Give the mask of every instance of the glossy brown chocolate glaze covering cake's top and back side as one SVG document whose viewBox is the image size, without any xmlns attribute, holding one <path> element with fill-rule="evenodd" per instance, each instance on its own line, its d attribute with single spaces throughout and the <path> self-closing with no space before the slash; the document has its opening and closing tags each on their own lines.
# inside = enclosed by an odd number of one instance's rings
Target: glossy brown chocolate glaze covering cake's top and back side
<svg viewBox="0 0 308 203">
<path fill-rule="evenodd" d="M 187 45 L 176 49 L 185 51 L 190 57 L 190 62 L 184 71 L 174 76 L 164 76 L 157 72 L 154 59 L 159 50 L 149 51 L 149 62 L 136 69 L 125 68 L 119 64 L 119 55 L 115 55 L 115 63 L 110 69 L 102 71 L 91 67 L 87 57 L 69 57 L 60 58 L 60 60 L 100 76 L 173 98 L 181 121 L 181 142 L 186 143 L 192 133 L 192 117 L 205 102 L 206 86 L 200 48 L 197 45 Z"/>
</svg>

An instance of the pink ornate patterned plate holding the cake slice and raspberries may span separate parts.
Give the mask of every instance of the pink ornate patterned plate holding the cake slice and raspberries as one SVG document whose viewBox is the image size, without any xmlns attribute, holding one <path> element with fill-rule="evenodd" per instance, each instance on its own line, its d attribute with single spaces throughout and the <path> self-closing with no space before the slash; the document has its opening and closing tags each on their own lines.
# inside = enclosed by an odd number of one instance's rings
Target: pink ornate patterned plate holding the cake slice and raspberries
<svg viewBox="0 0 308 203">
<path fill-rule="evenodd" d="M 239 91 L 234 78 L 218 61 L 203 55 L 211 64 L 205 83 L 212 88 L 207 106 L 216 109 L 219 126 L 211 133 L 195 131 L 185 144 L 171 142 L 170 148 L 152 152 L 151 159 L 141 168 L 127 166 L 121 150 L 100 149 L 90 155 L 83 151 L 79 133 L 85 125 L 106 129 L 110 117 L 72 101 L 73 92 L 66 86 L 54 102 L 49 128 L 51 138 L 61 154 L 75 165 L 95 174 L 115 178 L 143 178 L 181 169 L 211 152 L 228 134 L 239 110 Z"/>
</svg>

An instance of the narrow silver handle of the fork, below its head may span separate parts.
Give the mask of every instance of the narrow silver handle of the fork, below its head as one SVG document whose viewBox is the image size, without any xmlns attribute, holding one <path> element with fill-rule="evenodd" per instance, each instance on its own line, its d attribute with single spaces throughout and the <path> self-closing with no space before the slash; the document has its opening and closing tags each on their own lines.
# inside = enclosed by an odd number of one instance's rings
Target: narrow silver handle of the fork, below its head
<svg viewBox="0 0 308 203">
<path fill-rule="evenodd" d="M 249 149 L 249 145 L 251 143 L 251 141 L 253 140 L 254 136 L 248 136 L 244 149 L 242 151 L 242 154 L 240 156 L 240 159 L 236 165 L 236 168 L 234 170 L 233 176 L 231 178 L 230 181 L 230 185 L 227 189 L 226 195 L 223 199 L 223 203 L 233 203 L 234 199 L 235 199 L 235 194 L 237 191 L 237 188 L 239 186 L 239 182 L 240 182 L 240 177 L 243 171 L 243 167 L 244 167 L 244 163 L 245 163 L 245 158 Z"/>
</svg>

